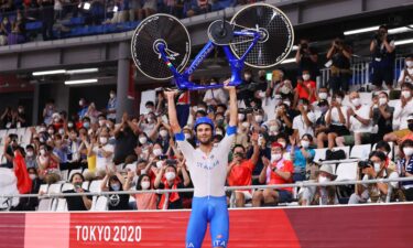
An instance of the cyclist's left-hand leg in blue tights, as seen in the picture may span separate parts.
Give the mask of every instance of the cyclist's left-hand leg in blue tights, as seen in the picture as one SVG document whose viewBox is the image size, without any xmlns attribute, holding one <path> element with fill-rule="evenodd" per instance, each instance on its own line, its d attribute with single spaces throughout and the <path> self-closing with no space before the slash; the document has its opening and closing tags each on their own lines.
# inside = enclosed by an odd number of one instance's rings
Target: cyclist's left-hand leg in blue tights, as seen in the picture
<svg viewBox="0 0 413 248">
<path fill-rule="evenodd" d="M 207 198 L 194 197 L 188 226 L 186 229 L 186 247 L 200 248 L 208 225 Z"/>
</svg>

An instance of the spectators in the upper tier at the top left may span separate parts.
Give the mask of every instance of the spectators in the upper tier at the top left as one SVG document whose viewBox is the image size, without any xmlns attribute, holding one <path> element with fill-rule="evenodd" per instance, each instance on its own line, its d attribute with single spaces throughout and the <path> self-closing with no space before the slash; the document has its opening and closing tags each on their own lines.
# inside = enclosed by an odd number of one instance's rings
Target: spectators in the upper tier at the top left
<svg viewBox="0 0 413 248">
<path fill-rule="evenodd" d="M 154 13 L 180 19 L 221 10 L 254 0 L 0 0 L 0 46 L 133 30 Z M 117 25 L 117 24 L 124 25 Z M 81 32 L 87 26 L 100 26 Z M 106 25 L 106 26 L 105 26 Z"/>
</svg>

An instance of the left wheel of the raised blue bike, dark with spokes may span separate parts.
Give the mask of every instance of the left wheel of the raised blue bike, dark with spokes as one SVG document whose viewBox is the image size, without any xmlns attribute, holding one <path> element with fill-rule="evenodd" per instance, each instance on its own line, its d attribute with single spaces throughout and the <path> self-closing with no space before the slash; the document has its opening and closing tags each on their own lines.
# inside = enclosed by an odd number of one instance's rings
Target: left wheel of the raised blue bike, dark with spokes
<svg viewBox="0 0 413 248">
<path fill-rule="evenodd" d="M 173 77 L 159 52 L 163 44 L 165 53 L 177 72 L 182 72 L 191 56 L 191 39 L 186 28 L 174 17 L 154 14 L 144 19 L 135 29 L 131 43 L 134 64 L 145 76 L 164 80 Z"/>
</svg>

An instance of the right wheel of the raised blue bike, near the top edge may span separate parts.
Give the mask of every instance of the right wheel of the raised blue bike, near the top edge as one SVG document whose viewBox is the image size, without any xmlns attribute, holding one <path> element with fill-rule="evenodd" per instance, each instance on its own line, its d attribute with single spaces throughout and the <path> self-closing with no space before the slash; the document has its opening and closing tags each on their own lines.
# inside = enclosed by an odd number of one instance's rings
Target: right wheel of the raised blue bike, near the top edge
<svg viewBox="0 0 413 248">
<path fill-rule="evenodd" d="M 278 8 L 256 3 L 238 11 L 230 23 L 236 31 L 261 32 L 259 42 L 247 55 L 246 64 L 256 68 L 272 67 L 281 63 L 294 44 L 294 30 L 289 18 Z M 232 53 L 240 58 L 252 42 L 251 36 L 235 36 L 230 42 Z"/>
</svg>

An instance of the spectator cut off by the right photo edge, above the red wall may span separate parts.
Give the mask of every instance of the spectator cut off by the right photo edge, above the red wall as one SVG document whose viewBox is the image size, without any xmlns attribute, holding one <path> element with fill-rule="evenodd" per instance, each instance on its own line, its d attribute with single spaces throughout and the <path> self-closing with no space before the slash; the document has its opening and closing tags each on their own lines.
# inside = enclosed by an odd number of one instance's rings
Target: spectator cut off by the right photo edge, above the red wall
<svg viewBox="0 0 413 248">
<path fill-rule="evenodd" d="M 401 182 L 401 187 L 406 201 L 413 201 L 413 140 L 404 140 L 400 150 L 402 157 L 398 161 L 398 171 L 401 177 L 412 177 L 412 181 Z"/>
</svg>

